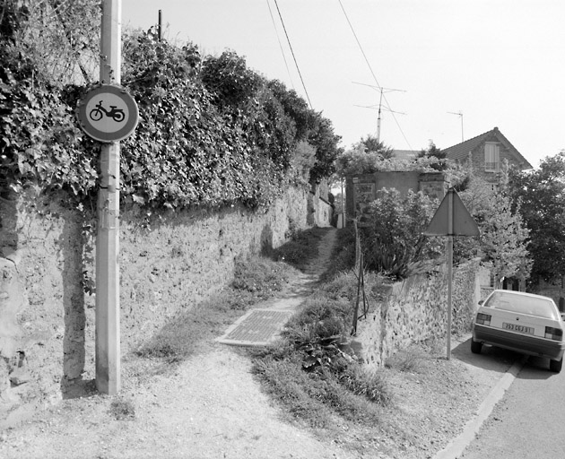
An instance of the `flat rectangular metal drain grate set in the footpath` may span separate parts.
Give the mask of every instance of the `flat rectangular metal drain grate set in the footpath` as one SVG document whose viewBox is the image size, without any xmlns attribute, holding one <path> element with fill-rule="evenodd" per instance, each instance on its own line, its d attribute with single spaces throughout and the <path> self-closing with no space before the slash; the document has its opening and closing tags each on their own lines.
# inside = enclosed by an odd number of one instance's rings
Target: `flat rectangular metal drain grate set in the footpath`
<svg viewBox="0 0 565 459">
<path fill-rule="evenodd" d="M 236 346 L 265 346 L 274 341 L 291 315 L 291 311 L 252 309 L 217 341 Z"/>
</svg>

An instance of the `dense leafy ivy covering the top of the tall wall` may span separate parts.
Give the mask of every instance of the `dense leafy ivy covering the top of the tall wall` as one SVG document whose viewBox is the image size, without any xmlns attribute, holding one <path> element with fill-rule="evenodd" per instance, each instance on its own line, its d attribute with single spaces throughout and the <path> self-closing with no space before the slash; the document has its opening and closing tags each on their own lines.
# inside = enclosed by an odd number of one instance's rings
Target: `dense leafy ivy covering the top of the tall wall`
<svg viewBox="0 0 565 459">
<path fill-rule="evenodd" d="M 0 17 L 0 185 L 38 194 L 63 188 L 81 201 L 97 189 L 100 153 L 74 119 L 89 87 L 63 84 L 75 74 L 56 81 L 41 72 L 33 42 L 18 31 L 43 26 L 22 4 L 8 0 Z M 135 134 L 121 143 L 123 202 L 256 208 L 334 171 L 340 137 L 331 122 L 234 52 L 203 58 L 192 44 L 135 31 L 123 37 L 123 62 L 122 85 L 140 108 Z"/>
</svg>

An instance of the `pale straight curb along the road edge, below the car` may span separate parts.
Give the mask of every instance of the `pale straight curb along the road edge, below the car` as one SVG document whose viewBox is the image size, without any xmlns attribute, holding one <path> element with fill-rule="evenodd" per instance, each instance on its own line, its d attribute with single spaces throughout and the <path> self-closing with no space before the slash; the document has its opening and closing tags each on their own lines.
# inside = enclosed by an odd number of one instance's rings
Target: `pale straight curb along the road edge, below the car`
<svg viewBox="0 0 565 459">
<path fill-rule="evenodd" d="M 500 377 L 497 384 L 492 387 L 491 392 L 479 405 L 474 417 L 467 421 L 463 432 L 451 440 L 448 446 L 439 451 L 438 454 L 434 455 L 433 459 L 457 459 L 463 455 L 465 448 L 469 446 L 479 432 L 479 429 L 481 429 L 482 423 L 488 419 L 496 404 L 500 402 L 508 387 L 512 385 L 517 374 L 524 367 L 526 359 L 526 357 L 523 357 L 517 360 L 512 367 L 508 368 L 508 371 Z"/>
</svg>

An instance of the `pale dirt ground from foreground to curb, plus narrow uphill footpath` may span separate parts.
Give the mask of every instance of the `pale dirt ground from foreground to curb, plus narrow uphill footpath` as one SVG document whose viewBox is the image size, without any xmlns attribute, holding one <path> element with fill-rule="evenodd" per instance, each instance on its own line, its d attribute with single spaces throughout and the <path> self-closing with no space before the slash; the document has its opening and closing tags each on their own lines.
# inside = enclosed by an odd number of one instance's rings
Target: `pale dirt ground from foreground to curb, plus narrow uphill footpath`
<svg viewBox="0 0 565 459">
<path fill-rule="evenodd" d="M 317 263 L 269 304 L 300 305 L 326 266 L 333 238 L 328 230 Z M 320 438 L 271 403 L 239 348 L 213 343 L 169 374 L 147 359 L 131 365 L 126 358 L 118 396 L 65 400 L 0 432 L 0 457 L 430 459 L 473 420 L 511 364 L 504 353 L 473 354 L 468 336 L 461 337 L 453 359 L 432 354 L 413 370 L 387 370 L 395 403 L 383 411 L 385 429 L 343 423 L 342 437 Z"/>
</svg>

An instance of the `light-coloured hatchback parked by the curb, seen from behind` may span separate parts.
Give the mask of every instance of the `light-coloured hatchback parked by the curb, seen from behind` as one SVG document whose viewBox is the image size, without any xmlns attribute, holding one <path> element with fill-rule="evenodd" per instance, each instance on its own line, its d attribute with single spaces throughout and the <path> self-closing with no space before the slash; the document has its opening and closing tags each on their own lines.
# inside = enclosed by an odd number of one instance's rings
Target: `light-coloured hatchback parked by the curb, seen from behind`
<svg viewBox="0 0 565 459">
<path fill-rule="evenodd" d="M 550 369 L 559 373 L 563 365 L 565 322 L 555 302 L 548 297 L 513 290 L 494 290 L 479 301 L 474 318 L 471 351 L 482 344 L 550 359 Z"/>
</svg>

